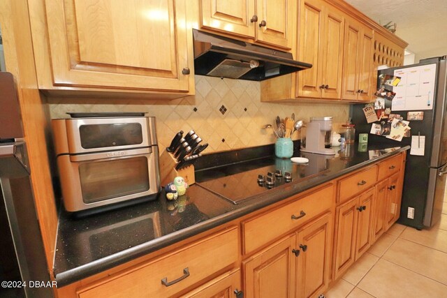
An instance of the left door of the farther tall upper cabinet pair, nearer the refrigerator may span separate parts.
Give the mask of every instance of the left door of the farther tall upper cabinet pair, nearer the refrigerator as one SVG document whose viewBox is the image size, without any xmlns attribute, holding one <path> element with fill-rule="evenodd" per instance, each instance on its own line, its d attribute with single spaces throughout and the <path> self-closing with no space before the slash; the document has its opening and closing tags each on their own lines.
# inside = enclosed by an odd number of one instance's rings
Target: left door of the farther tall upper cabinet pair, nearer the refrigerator
<svg viewBox="0 0 447 298">
<path fill-rule="evenodd" d="M 346 19 L 344 31 L 343 88 L 342 98 L 356 100 L 358 98 L 358 73 L 361 60 L 361 25 Z"/>
</svg>

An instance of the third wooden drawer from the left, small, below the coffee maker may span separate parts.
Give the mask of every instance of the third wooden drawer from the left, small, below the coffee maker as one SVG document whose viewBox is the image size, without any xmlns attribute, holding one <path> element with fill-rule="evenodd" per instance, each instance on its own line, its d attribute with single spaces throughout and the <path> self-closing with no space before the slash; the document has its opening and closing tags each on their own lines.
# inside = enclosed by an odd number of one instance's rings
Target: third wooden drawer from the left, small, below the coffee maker
<svg viewBox="0 0 447 298">
<path fill-rule="evenodd" d="M 362 170 L 349 177 L 338 181 L 337 203 L 344 202 L 353 195 L 365 191 L 376 183 L 377 169 L 374 165 L 367 170 Z"/>
</svg>

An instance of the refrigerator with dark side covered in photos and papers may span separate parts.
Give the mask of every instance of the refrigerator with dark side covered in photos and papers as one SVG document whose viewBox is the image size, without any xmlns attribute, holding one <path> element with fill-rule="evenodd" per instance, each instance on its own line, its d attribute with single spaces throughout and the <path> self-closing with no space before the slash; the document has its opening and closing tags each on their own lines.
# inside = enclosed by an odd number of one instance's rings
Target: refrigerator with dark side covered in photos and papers
<svg viewBox="0 0 447 298">
<path fill-rule="evenodd" d="M 420 140 L 419 135 L 425 137 L 425 144 L 423 144 L 425 154 L 423 156 L 411 155 L 410 151 L 407 152 L 399 218 L 399 223 L 418 230 L 431 227 L 440 221 L 444 203 L 447 174 L 446 56 L 420 60 L 419 64 L 410 66 L 379 70 L 377 86 L 379 92 L 379 89 L 383 87 L 383 80 L 380 78 L 385 75 L 392 78 L 400 73 L 400 70 L 403 73 L 411 73 L 423 68 L 431 69 L 434 72 L 433 86 L 430 89 L 432 91 L 428 91 L 428 93 L 425 91 L 423 96 L 413 96 L 411 94 L 412 97 L 408 96 L 407 98 L 411 98 L 412 101 L 409 101 L 407 105 L 404 105 L 405 97 L 402 102 L 395 101 L 393 104 L 393 100 L 401 100 L 402 96 L 405 96 L 405 91 L 401 91 L 401 94 L 400 91 L 397 91 L 398 88 L 402 87 L 402 85 L 399 87 L 400 83 L 397 83 L 397 86 L 386 85 L 386 91 L 392 92 L 390 94 L 396 91 L 394 97 L 391 98 L 393 95 L 385 96 L 385 107 L 390 107 L 391 113 L 399 114 L 403 120 L 409 120 L 410 134 L 416 136 L 415 140 Z M 410 87 L 424 88 L 423 84 L 428 84 L 425 80 L 427 79 L 421 75 L 418 81 L 412 79 L 411 86 L 409 82 L 405 82 L 406 86 L 409 86 L 406 92 L 410 93 Z M 405 87 L 405 84 L 403 86 Z M 414 90 L 411 90 L 411 92 L 414 92 Z M 417 90 L 415 94 L 417 94 Z M 423 101 L 418 102 L 418 100 Z M 401 103 L 402 106 L 397 108 Z M 421 105 L 421 103 L 423 104 Z M 362 110 L 363 107 L 365 107 L 365 104 L 351 105 L 351 117 L 353 124 L 356 124 L 356 140 L 358 140 L 359 133 L 369 133 L 369 145 L 387 144 L 390 147 L 411 145 L 411 137 L 404 137 L 402 142 L 398 142 L 383 135 L 371 134 L 372 124 L 367 124 Z M 396 110 L 393 110 L 393 107 Z M 405 110 L 405 107 L 407 110 Z M 411 120 L 420 119 L 420 117 L 423 119 Z M 383 124 L 383 121 L 376 121 L 375 123 Z M 418 144 L 418 146 L 421 145 Z M 409 215 L 409 209 L 412 208 L 414 209 L 413 218 Z"/>
</svg>

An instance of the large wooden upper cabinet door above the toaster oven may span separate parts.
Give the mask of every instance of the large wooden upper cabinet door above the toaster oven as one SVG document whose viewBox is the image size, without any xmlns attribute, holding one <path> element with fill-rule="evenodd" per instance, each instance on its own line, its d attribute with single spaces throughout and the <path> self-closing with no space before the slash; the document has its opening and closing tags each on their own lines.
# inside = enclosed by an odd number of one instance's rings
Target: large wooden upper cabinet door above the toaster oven
<svg viewBox="0 0 447 298">
<path fill-rule="evenodd" d="M 45 9 L 54 86 L 189 91 L 184 0 L 46 0 Z"/>
</svg>

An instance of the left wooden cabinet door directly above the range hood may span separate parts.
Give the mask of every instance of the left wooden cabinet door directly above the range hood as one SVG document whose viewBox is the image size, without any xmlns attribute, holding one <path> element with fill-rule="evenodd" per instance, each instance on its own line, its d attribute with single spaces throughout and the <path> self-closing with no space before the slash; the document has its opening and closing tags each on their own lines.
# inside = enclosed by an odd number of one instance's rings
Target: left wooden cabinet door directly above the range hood
<svg viewBox="0 0 447 298">
<path fill-rule="evenodd" d="M 254 38 L 257 22 L 255 0 L 202 0 L 200 1 L 202 27 L 225 31 L 244 38 Z"/>
</svg>

